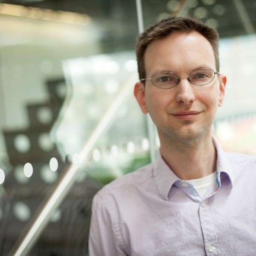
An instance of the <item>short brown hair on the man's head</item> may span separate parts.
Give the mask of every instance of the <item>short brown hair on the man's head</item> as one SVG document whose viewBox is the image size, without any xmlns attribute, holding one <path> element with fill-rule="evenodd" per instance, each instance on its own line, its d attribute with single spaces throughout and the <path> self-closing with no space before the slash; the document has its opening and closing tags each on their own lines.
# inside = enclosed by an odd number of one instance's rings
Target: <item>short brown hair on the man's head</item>
<svg viewBox="0 0 256 256">
<path fill-rule="evenodd" d="M 138 72 L 140 79 L 146 78 L 144 55 L 148 45 L 160 38 L 165 38 L 173 32 L 198 32 L 203 35 L 211 44 L 214 57 L 216 71 L 219 72 L 219 35 L 218 32 L 202 23 L 200 20 L 195 20 L 189 17 L 168 17 L 156 23 L 154 26 L 148 27 L 140 34 L 136 44 L 136 55 L 138 63 Z"/>
</svg>

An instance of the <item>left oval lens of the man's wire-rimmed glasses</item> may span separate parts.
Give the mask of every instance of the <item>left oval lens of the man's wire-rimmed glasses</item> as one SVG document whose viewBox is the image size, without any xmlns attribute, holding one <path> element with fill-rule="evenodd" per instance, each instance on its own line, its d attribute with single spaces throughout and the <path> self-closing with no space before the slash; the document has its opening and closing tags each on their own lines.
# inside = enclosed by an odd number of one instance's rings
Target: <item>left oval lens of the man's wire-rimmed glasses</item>
<svg viewBox="0 0 256 256">
<path fill-rule="evenodd" d="M 169 72 L 162 72 L 152 76 L 152 82 L 155 86 L 162 89 L 169 89 L 176 85 L 178 77 Z"/>
</svg>

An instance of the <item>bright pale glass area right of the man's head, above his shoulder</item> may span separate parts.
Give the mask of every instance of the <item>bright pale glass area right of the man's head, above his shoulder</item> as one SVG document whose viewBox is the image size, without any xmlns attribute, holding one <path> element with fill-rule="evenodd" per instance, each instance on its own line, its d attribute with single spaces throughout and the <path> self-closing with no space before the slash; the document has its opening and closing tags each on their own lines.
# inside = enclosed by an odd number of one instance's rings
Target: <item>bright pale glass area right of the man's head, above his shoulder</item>
<svg viewBox="0 0 256 256">
<path fill-rule="evenodd" d="M 256 35 L 221 40 L 221 71 L 227 76 L 215 136 L 227 151 L 256 154 Z"/>
</svg>

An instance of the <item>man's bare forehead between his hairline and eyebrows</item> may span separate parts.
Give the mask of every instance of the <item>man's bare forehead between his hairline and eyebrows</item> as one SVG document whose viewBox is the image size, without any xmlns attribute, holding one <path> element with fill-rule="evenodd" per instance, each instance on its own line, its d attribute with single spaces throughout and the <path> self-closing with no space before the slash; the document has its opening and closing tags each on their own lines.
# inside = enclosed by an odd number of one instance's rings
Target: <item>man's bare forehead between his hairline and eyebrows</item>
<svg viewBox="0 0 256 256">
<path fill-rule="evenodd" d="M 209 41 L 198 32 L 174 32 L 151 42 L 145 51 L 146 74 L 161 71 L 190 72 L 197 67 L 215 69 Z"/>
</svg>

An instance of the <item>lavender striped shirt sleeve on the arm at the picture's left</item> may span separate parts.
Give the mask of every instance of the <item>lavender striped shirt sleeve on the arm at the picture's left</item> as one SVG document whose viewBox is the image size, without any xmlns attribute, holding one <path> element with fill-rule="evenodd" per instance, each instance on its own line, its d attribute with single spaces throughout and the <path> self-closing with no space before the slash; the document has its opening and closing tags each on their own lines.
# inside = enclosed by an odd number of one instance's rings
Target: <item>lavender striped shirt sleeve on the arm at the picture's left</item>
<svg viewBox="0 0 256 256">
<path fill-rule="evenodd" d="M 89 255 L 127 256 L 117 245 L 117 237 L 113 230 L 111 215 L 98 194 L 94 196 L 92 204 Z"/>
</svg>

